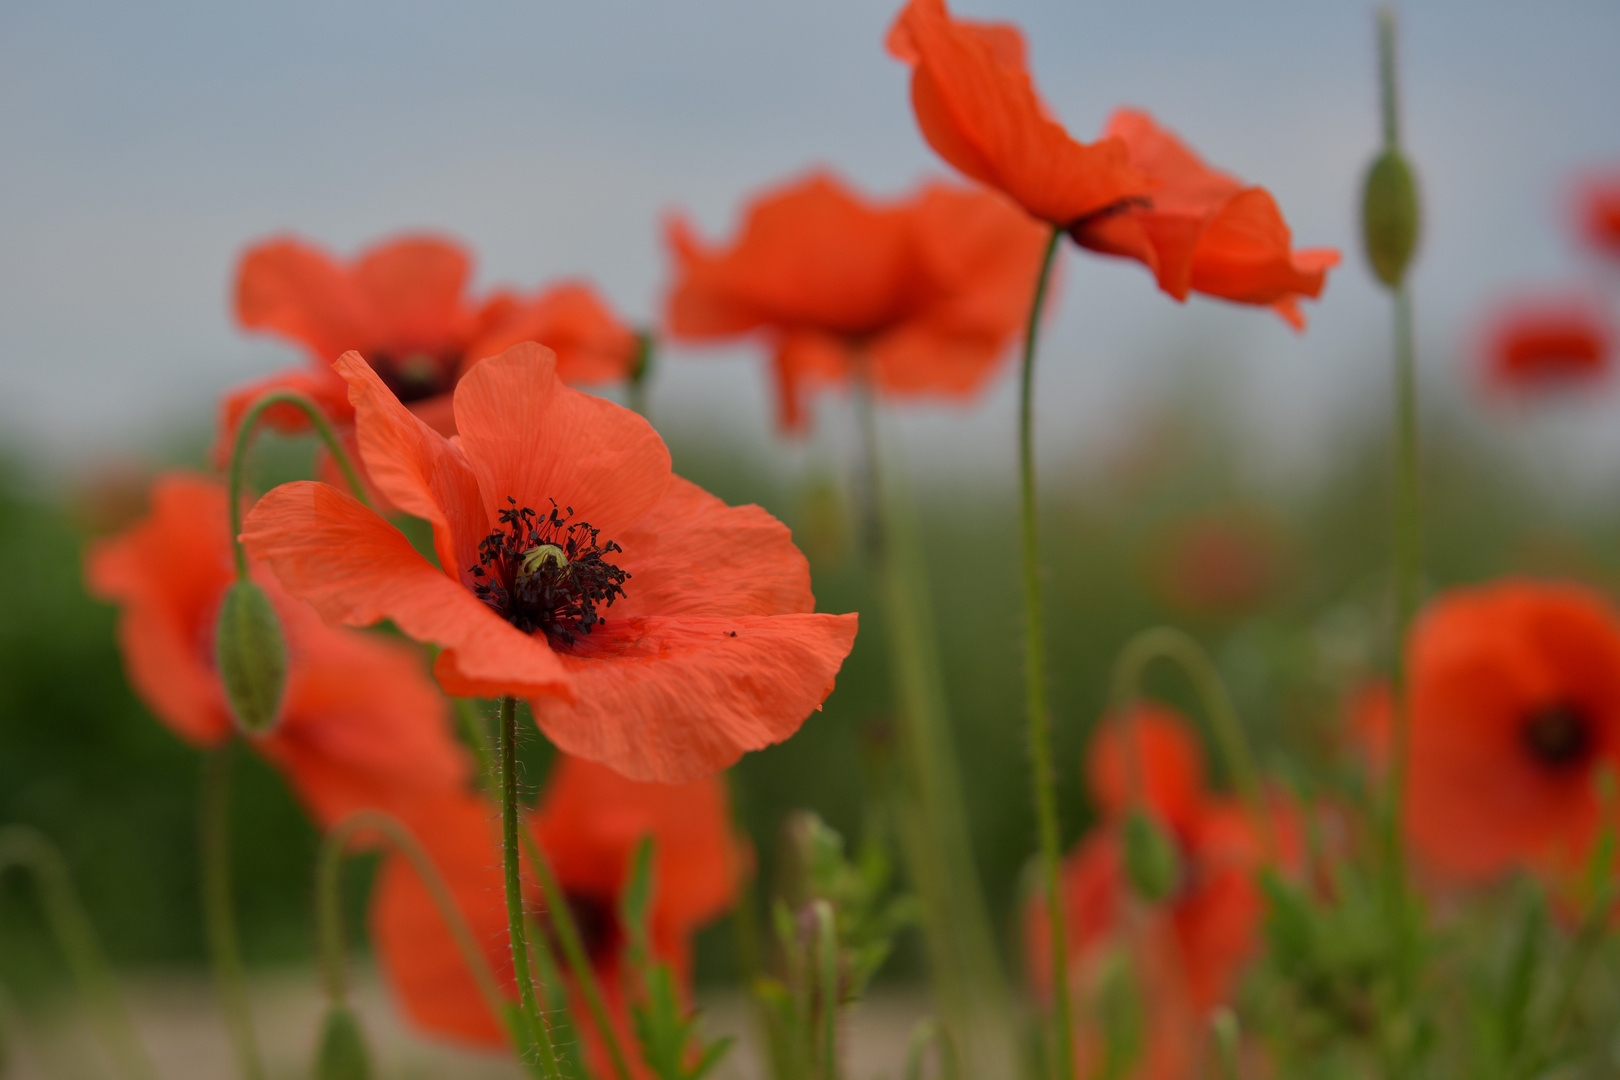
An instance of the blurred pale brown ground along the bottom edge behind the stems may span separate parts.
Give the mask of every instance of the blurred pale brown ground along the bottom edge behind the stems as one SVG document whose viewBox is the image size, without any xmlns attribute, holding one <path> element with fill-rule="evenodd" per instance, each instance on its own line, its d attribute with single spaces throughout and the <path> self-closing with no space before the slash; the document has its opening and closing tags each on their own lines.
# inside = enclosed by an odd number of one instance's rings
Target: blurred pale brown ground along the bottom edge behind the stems
<svg viewBox="0 0 1620 1080">
<path fill-rule="evenodd" d="M 212 984 L 201 975 L 149 975 L 123 983 L 136 1027 L 170 1080 L 230 1080 L 237 1075 Z M 271 1080 L 308 1077 L 321 1023 L 321 996 L 313 970 L 280 970 L 254 980 L 253 1010 Z M 371 1040 L 377 1080 L 517 1080 L 523 1072 L 499 1054 L 426 1041 L 400 1023 L 374 976 L 363 976 L 355 1004 Z M 753 1080 L 757 1040 L 752 1014 L 740 996 L 701 999 L 710 1035 L 734 1035 L 739 1044 L 713 1080 Z M 920 991 L 886 988 L 850 1012 L 849 1075 L 899 1075 L 912 1025 L 927 1012 Z M 102 1080 L 112 1075 L 84 1017 L 58 1006 L 29 1017 L 11 1043 L 6 1080 Z"/>
</svg>

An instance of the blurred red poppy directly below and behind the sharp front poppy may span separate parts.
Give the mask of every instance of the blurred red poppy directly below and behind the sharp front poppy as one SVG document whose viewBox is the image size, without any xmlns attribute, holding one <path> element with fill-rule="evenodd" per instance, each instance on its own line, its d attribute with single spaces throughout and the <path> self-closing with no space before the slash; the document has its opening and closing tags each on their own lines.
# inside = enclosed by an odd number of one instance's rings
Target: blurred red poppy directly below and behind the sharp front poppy
<svg viewBox="0 0 1620 1080">
<path fill-rule="evenodd" d="M 460 795 L 415 808 L 408 823 L 444 873 L 473 936 L 486 942 L 497 981 L 510 986 L 496 808 L 481 797 Z M 627 1006 L 633 988 L 627 984 L 619 907 L 632 855 L 642 837 L 653 837 L 651 946 L 690 993 L 692 934 L 732 905 L 747 857 L 731 832 L 724 784 L 718 777 L 640 784 L 564 756 L 528 826 L 567 895 L 619 1043 L 630 1051 L 635 1040 Z M 526 879 L 525 892 L 541 912 L 538 884 Z M 413 1023 L 471 1043 L 505 1043 L 433 899 L 399 855 L 379 873 L 371 925 L 384 975 Z M 572 980 L 570 991 L 577 993 Z M 609 1075 L 590 1012 L 577 1004 L 570 1015 L 586 1035 L 598 1072 Z"/>
</svg>

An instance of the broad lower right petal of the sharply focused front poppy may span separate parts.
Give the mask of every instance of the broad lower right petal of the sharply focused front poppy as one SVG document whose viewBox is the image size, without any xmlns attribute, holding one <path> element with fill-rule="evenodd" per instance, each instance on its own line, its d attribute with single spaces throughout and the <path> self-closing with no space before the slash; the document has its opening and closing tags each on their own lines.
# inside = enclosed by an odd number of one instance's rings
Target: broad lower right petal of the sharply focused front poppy
<svg viewBox="0 0 1620 1080">
<path fill-rule="evenodd" d="M 535 699 L 557 746 L 632 779 L 682 784 L 778 743 L 833 691 L 855 615 L 611 620 L 562 662 L 573 704 Z"/>
</svg>

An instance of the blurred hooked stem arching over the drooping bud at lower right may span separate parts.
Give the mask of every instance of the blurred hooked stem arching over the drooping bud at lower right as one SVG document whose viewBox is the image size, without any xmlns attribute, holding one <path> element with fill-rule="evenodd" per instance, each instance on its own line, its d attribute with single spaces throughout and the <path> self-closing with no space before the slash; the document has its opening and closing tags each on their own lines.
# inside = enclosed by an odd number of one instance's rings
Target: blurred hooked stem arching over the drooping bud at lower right
<svg viewBox="0 0 1620 1080">
<path fill-rule="evenodd" d="M 1131 706 L 1142 696 L 1142 675 L 1153 661 L 1165 659 L 1176 664 L 1192 690 L 1199 695 L 1204 716 L 1209 721 L 1215 746 L 1220 750 L 1221 764 L 1226 776 L 1238 789 L 1238 797 L 1247 806 L 1254 826 L 1260 831 L 1267 853 L 1277 855 L 1277 834 L 1272 818 L 1265 813 L 1265 797 L 1260 789 L 1260 771 L 1254 764 L 1254 751 L 1244 735 L 1243 724 L 1238 722 L 1238 709 L 1233 706 L 1226 683 L 1215 667 L 1215 661 L 1204 651 L 1192 635 L 1174 627 L 1153 627 L 1131 638 L 1115 661 L 1111 701 L 1116 722 L 1126 722 L 1132 714 Z M 1142 792 L 1140 740 L 1131 738 L 1126 746 L 1128 767 L 1132 771 L 1132 790 Z"/>
</svg>

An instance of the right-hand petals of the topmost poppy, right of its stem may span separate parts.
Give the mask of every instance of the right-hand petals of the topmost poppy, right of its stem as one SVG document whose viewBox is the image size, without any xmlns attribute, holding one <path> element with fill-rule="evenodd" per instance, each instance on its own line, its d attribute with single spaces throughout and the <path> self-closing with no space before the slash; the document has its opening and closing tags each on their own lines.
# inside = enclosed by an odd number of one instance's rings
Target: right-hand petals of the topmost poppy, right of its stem
<svg viewBox="0 0 1620 1080">
<path fill-rule="evenodd" d="M 1140 204 L 1071 228 L 1076 243 L 1139 259 L 1158 287 L 1184 301 L 1199 291 L 1243 304 L 1268 304 L 1304 329 L 1299 298 L 1317 298 L 1338 251 L 1294 251 L 1288 223 L 1265 188 L 1210 168 L 1174 134 L 1134 108 L 1108 121 L 1108 138 L 1153 181 Z"/>
</svg>

